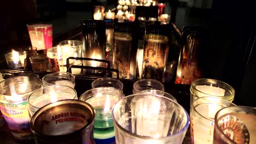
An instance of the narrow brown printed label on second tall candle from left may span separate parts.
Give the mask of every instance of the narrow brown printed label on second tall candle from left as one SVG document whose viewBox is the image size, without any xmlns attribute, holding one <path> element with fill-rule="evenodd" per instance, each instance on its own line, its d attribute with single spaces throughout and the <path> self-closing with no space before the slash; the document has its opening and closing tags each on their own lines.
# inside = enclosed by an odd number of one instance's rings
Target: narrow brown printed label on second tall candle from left
<svg viewBox="0 0 256 144">
<path fill-rule="evenodd" d="M 131 33 L 114 32 L 113 67 L 119 70 L 121 79 L 134 78 L 129 71 L 131 41 Z"/>
</svg>

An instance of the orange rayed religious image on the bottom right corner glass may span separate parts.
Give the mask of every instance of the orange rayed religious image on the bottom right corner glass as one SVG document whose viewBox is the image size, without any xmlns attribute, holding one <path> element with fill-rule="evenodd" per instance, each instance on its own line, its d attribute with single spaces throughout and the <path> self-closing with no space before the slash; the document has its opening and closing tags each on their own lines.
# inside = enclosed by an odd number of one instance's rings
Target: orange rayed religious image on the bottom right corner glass
<svg viewBox="0 0 256 144">
<path fill-rule="evenodd" d="M 230 115 L 224 116 L 219 121 L 219 127 L 229 139 L 235 141 L 237 144 L 249 143 L 250 134 L 241 119 Z M 221 139 L 221 137 L 219 138 Z"/>
</svg>

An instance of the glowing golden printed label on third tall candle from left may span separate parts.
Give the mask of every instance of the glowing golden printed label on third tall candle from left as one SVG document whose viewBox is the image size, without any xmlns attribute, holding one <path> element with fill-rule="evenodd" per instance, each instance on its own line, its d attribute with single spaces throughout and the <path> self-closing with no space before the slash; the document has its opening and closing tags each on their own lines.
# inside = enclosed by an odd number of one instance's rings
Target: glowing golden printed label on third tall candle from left
<svg viewBox="0 0 256 144">
<path fill-rule="evenodd" d="M 142 79 L 164 81 L 168 37 L 146 34 L 142 64 Z"/>
</svg>

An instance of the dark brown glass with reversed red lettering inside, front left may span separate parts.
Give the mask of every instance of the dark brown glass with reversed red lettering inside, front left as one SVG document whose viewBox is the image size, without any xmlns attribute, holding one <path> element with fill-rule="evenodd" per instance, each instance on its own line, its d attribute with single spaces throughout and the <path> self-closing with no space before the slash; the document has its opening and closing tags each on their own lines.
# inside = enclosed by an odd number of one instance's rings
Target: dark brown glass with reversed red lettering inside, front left
<svg viewBox="0 0 256 144">
<path fill-rule="evenodd" d="M 94 143 L 95 110 L 84 101 L 60 100 L 41 107 L 31 118 L 40 144 Z"/>
</svg>

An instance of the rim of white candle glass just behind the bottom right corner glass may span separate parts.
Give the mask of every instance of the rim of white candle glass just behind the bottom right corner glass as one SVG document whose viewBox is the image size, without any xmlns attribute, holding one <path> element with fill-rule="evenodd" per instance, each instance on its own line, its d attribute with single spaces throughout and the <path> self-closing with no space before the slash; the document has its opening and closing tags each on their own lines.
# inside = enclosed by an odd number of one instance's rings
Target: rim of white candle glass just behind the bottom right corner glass
<svg viewBox="0 0 256 144">
<path fill-rule="evenodd" d="M 197 102 L 197 101 L 199 101 L 199 100 L 201 100 L 201 99 L 208 99 L 208 98 L 211 98 L 211 99 L 218 99 L 218 100 L 220 100 L 220 101 L 225 101 L 225 103 L 230 103 L 232 106 L 236 106 L 236 104 L 234 104 L 234 103 L 232 103 L 231 101 L 229 101 L 229 100 L 225 100 L 225 99 L 222 99 L 222 98 L 218 98 L 218 97 L 200 97 L 200 98 L 197 98 L 194 102 L 193 102 L 193 104 L 192 104 L 192 106 L 191 106 L 191 109 L 193 109 L 196 113 L 197 113 L 197 115 L 199 115 L 200 117 L 202 117 L 202 118 L 205 118 L 205 119 L 207 119 L 208 121 L 211 121 L 211 122 L 214 122 L 214 119 L 212 120 L 211 118 L 208 118 L 208 117 L 205 117 L 205 116 L 203 116 L 203 115 L 201 115 L 201 113 L 200 112 L 198 112 L 196 109 L 195 109 L 195 106 L 194 106 L 194 104 Z M 203 103 L 203 104 L 218 104 L 218 103 Z M 200 105 L 200 104 L 197 104 L 197 105 Z M 196 106 L 197 106 L 196 105 Z M 224 107 L 225 108 L 225 107 Z M 217 113 L 217 112 L 216 112 Z"/>
</svg>

